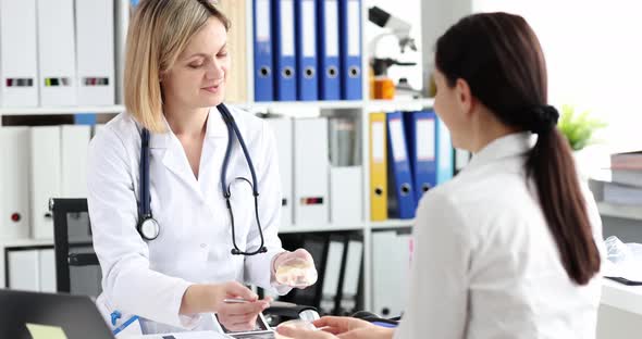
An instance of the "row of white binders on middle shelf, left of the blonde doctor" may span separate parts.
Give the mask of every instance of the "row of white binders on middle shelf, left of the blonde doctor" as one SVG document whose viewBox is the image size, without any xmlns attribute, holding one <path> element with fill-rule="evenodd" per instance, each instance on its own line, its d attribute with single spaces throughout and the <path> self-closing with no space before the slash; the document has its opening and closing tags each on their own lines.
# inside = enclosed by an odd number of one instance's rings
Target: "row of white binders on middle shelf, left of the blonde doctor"
<svg viewBox="0 0 642 339">
<path fill-rule="evenodd" d="M 88 125 L 0 128 L 0 238 L 53 239 L 49 199 L 87 197 L 95 133 Z"/>
</svg>

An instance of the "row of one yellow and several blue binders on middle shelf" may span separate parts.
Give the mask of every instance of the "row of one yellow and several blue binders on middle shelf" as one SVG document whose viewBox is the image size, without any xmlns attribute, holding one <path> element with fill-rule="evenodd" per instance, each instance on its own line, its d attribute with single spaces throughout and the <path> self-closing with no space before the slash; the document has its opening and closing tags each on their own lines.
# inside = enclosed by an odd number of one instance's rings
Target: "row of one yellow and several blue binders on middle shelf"
<svg viewBox="0 0 642 339">
<path fill-rule="evenodd" d="M 408 219 L 454 175 L 448 129 L 433 110 L 370 114 L 370 218 Z"/>
</svg>

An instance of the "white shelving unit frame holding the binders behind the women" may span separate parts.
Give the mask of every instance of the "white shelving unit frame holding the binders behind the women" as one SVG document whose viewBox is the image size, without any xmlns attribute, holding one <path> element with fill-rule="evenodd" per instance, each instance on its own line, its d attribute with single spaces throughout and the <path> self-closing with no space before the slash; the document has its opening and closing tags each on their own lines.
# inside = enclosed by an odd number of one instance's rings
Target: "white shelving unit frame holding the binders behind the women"
<svg viewBox="0 0 642 339">
<path fill-rule="evenodd" d="M 460 11 L 469 11 L 470 5 L 468 1 L 458 0 L 458 10 Z M 368 8 L 371 5 L 369 0 L 361 1 L 361 22 L 362 22 L 362 33 L 365 32 L 366 25 L 368 23 Z M 444 2 L 444 3 L 440 3 Z M 436 15 L 436 11 L 444 11 L 444 5 L 446 8 L 449 5 L 449 2 L 445 0 L 439 1 L 418 1 L 420 3 L 422 10 L 422 16 L 431 16 Z M 390 111 L 415 111 L 415 110 L 422 110 L 425 108 L 431 108 L 434 103 L 433 99 L 430 98 L 420 98 L 420 99 L 410 99 L 410 98 L 403 98 L 397 100 L 370 100 L 368 99 L 368 42 L 366 38 L 362 40 L 362 74 L 363 74 L 363 83 L 362 83 L 362 92 L 363 92 L 363 100 L 356 100 L 356 101 L 308 101 L 308 102 L 254 102 L 254 79 L 251 75 L 254 74 L 254 46 L 252 46 L 252 15 L 251 15 L 251 8 L 252 8 L 252 0 L 245 0 L 245 7 L 247 9 L 246 13 L 246 23 L 245 23 L 245 30 L 247 33 L 247 45 L 246 53 L 247 53 L 247 66 L 246 73 L 248 75 L 247 79 L 247 98 L 249 98 L 248 102 L 230 102 L 230 105 L 235 105 L 242 109 L 245 109 L 252 113 L 280 113 L 280 111 L 287 111 L 287 112 L 317 112 L 313 114 L 321 114 L 322 111 L 323 115 L 332 114 L 333 112 L 339 112 L 341 114 L 349 114 L 350 116 L 355 116 L 358 121 L 360 121 L 360 135 L 361 135 L 361 166 L 362 166 L 362 221 L 355 225 L 319 225 L 319 226 L 305 226 L 305 225 L 295 225 L 286 228 L 280 229 L 280 234 L 296 234 L 296 233 L 333 233 L 333 231 L 358 231 L 362 234 L 363 237 L 363 269 L 365 269 L 365 280 L 363 280 L 363 288 L 365 288 L 365 307 L 368 310 L 371 306 L 372 300 L 372 262 L 371 262 L 371 253 L 372 253 L 372 243 L 371 243 L 371 236 L 373 231 L 379 230 L 387 230 L 387 229 L 403 229 L 403 230 L 411 230 L 413 221 L 398 221 L 398 219 L 391 219 L 385 222 L 370 222 L 370 192 L 369 192 L 369 114 L 373 112 L 390 112 Z M 108 114 L 108 113 L 120 113 L 125 110 L 124 105 L 122 104 L 123 93 L 122 93 L 122 77 L 119 76 L 122 74 L 124 68 L 124 42 L 127 32 L 127 24 L 128 24 L 128 8 L 129 8 L 129 0 L 116 0 L 115 1 L 115 33 L 114 33 L 114 40 L 115 40 L 115 71 L 116 71 L 116 104 L 109 105 L 109 106 L 70 106 L 70 108 L 20 108 L 20 109 L 10 109 L 10 108 L 0 108 L 0 117 L 1 116 L 41 116 L 41 115 L 67 115 L 67 114 L 85 114 L 85 113 L 98 113 L 98 114 Z M 452 11 L 448 11 L 452 12 Z M 429 13 L 429 14 L 427 14 Z M 448 13 L 449 15 L 458 16 L 456 13 Z M 431 16 L 432 17 L 432 16 Z M 437 20 L 439 18 L 439 20 Z M 421 39 L 423 46 L 432 46 L 429 43 L 431 39 L 436 37 L 435 34 L 425 34 L 427 29 L 437 29 L 441 26 L 444 26 L 443 22 L 449 22 L 449 18 L 442 18 L 441 16 L 435 20 L 431 20 L 430 24 L 422 23 L 421 27 L 417 27 L 416 32 L 421 32 L 423 38 Z M 436 25 L 436 26 L 435 26 Z M 430 63 L 428 63 L 430 65 Z M 239 65 L 243 67 L 242 65 Z M 424 72 L 423 74 L 428 74 L 427 64 L 423 64 Z M 305 115 L 305 114 L 304 114 Z M 0 128 L 2 128 L 2 122 L 0 118 Z M 20 247 L 20 246 L 48 246 L 52 244 L 52 240 L 33 240 L 33 239 L 17 239 L 17 240 L 3 240 L 0 239 L 0 244 L 12 246 L 12 247 Z"/>
</svg>

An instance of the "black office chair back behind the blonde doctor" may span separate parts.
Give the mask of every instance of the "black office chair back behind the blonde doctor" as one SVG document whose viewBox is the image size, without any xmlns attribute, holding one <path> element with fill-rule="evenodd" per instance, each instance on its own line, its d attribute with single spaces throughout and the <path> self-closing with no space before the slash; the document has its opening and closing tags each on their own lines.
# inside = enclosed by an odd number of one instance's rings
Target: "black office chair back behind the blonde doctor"
<svg viewBox="0 0 642 339">
<path fill-rule="evenodd" d="M 98 297 L 102 276 L 91 241 L 87 199 L 54 198 L 49 210 L 53 216 L 57 290 Z"/>
</svg>

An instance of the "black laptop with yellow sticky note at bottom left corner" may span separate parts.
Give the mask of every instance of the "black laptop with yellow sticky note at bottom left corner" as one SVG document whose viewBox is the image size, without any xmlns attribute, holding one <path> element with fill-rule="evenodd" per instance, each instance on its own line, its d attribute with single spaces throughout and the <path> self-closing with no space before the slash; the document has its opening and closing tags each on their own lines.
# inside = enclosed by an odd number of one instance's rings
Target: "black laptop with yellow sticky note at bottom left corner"
<svg viewBox="0 0 642 339">
<path fill-rule="evenodd" d="M 27 326 L 66 339 L 114 338 L 89 297 L 0 289 L 0 338 L 32 339 Z"/>
</svg>

